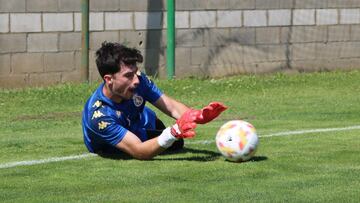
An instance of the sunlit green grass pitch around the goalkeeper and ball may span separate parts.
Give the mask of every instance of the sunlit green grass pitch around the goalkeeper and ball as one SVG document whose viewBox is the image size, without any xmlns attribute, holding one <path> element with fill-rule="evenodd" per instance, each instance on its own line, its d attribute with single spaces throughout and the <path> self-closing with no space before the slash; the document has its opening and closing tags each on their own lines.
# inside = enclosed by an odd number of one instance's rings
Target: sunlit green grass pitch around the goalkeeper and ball
<svg viewBox="0 0 360 203">
<path fill-rule="evenodd" d="M 359 201 L 359 128 L 264 137 L 359 126 L 359 71 L 155 82 L 189 106 L 222 101 L 229 109 L 200 125 L 183 151 L 150 161 L 96 156 L 0 168 L 0 202 Z M 81 111 L 96 86 L 0 90 L 0 165 L 87 153 Z M 252 161 L 217 152 L 215 134 L 233 119 L 257 128 Z"/>
</svg>

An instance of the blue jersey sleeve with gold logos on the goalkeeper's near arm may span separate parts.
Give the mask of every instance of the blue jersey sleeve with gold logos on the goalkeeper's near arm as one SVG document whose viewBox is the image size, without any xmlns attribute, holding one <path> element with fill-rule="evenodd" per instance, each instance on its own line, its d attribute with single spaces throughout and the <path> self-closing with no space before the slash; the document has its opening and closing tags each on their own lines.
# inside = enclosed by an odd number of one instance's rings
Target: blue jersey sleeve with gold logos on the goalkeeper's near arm
<svg viewBox="0 0 360 203">
<path fill-rule="evenodd" d="M 100 110 L 94 111 L 90 128 L 96 137 L 116 146 L 124 138 L 127 129 L 115 121 L 112 116 L 104 115 Z"/>
</svg>

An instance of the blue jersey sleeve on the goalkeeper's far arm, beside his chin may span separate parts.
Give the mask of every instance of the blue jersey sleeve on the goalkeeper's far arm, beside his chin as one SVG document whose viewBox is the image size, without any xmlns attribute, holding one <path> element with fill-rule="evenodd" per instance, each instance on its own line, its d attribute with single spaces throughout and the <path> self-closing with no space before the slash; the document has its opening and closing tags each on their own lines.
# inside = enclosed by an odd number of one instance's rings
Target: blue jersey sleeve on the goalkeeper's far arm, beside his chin
<svg viewBox="0 0 360 203">
<path fill-rule="evenodd" d="M 147 101 L 154 103 L 161 97 L 163 94 L 162 91 L 144 73 L 140 73 L 139 77 L 141 78 L 141 86 L 144 90 L 144 98 Z"/>
</svg>

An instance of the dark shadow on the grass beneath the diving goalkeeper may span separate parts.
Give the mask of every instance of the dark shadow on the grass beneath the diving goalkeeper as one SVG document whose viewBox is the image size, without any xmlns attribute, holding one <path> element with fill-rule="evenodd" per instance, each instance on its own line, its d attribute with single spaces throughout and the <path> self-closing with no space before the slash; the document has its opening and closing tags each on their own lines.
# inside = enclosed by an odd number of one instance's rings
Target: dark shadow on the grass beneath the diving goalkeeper
<svg viewBox="0 0 360 203">
<path fill-rule="evenodd" d="M 165 155 L 173 154 L 187 154 L 191 153 L 189 157 L 164 157 Z M 114 160 L 131 160 L 134 159 L 130 155 L 123 152 L 114 152 L 114 153 L 99 153 L 102 158 L 114 159 Z M 174 150 L 174 151 L 164 151 L 155 158 L 147 161 L 214 161 L 221 157 L 221 154 L 209 151 L 209 150 L 199 150 L 191 149 L 184 147 L 183 149 Z"/>
</svg>

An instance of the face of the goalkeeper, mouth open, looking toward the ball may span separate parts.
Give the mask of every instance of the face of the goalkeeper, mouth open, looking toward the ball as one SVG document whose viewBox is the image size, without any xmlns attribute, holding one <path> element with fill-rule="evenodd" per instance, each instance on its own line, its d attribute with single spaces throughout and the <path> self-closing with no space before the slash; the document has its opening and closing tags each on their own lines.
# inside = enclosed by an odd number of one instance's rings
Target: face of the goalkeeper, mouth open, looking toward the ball
<svg viewBox="0 0 360 203">
<path fill-rule="evenodd" d="M 138 67 L 125 64 L 121 64 L 120 67 L 120 71 L 111 75 L 106 83 L 115 100 L 130 99 L 139 85 L 139 78 L 136 74 Z"/>
</svg>

